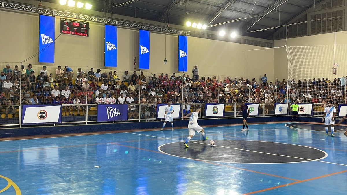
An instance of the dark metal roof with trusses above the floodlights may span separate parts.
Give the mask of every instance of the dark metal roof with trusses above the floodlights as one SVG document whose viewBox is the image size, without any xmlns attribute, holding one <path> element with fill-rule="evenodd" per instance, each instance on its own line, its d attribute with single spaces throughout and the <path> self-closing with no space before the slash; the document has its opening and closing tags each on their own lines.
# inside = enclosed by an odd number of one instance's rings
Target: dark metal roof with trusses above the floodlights
<svg viewBox="0 0 347 195">
<path fill-rule="evenodd" d="M 59 0 L 43 1 L 59 3 Z M 322 0 L 82 1 L 90 2 L 93 5 L 92 9 L 97 11 L 177 25 L 185 25 L 187 21 L 190 21 L 212 25 L 207 28 L 212 31 L 224 29 L 236 31 L 240 35 L 273 40 L 272 35 L 279 28 L 272 27 L 288 24 L 291 19 Z M 213 26 L 225 22 L 229 23 Z M 257 31 L 261 29 L 266 30 Z"/>
</svg>

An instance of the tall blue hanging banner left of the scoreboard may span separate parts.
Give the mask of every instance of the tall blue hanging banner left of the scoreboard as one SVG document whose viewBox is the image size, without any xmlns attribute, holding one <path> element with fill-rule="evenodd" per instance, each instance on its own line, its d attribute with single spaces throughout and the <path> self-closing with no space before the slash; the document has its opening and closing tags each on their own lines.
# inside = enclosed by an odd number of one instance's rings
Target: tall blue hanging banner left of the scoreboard
<svg viewBox="0 0 347 195">
<path fill-rule="evenodd" d="M 54 63 L 56 17 L 40 15 L 39 62 Z"/>
</svg>

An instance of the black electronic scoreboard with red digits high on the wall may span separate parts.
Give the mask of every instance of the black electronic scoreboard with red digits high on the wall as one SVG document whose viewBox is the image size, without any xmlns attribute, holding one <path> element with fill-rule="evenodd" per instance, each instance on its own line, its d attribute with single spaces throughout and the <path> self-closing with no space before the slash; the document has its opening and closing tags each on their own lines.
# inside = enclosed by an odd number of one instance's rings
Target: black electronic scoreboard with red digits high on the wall
<svg viewBox="0 0 347 195">
<path fill-rule="evenodd" d="M 60 33 L 89 36 L 89 23 L 60 18 Z"/>
</svg>

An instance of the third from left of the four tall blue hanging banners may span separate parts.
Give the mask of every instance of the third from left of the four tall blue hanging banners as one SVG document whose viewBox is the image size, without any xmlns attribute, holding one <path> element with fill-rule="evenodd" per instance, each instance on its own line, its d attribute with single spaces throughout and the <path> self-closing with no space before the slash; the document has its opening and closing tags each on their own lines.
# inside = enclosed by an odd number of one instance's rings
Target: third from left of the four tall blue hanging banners
<svg viewBox="0 0 347 195">
<path fill-rule="evenodd" d="M 138 68 L 150 69 L 150 32 L 139 30 Z"/>
</svg>

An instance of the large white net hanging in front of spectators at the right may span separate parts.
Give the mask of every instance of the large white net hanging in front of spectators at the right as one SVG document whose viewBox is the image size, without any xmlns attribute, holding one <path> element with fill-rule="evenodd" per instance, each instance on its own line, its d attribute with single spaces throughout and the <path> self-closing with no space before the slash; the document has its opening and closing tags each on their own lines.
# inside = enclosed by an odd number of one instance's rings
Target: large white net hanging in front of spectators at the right
<svg viewBox="0 0 347 195">
<path fill-rule="evenodd" d="M 336 107 L 346 102 L 347 44 L 287 46 L 286 50 L 288 83 L 283 96 L 287 101 L 314 103 L 315 115 L 321 115 L 329 101 Z"/>
</svg>

